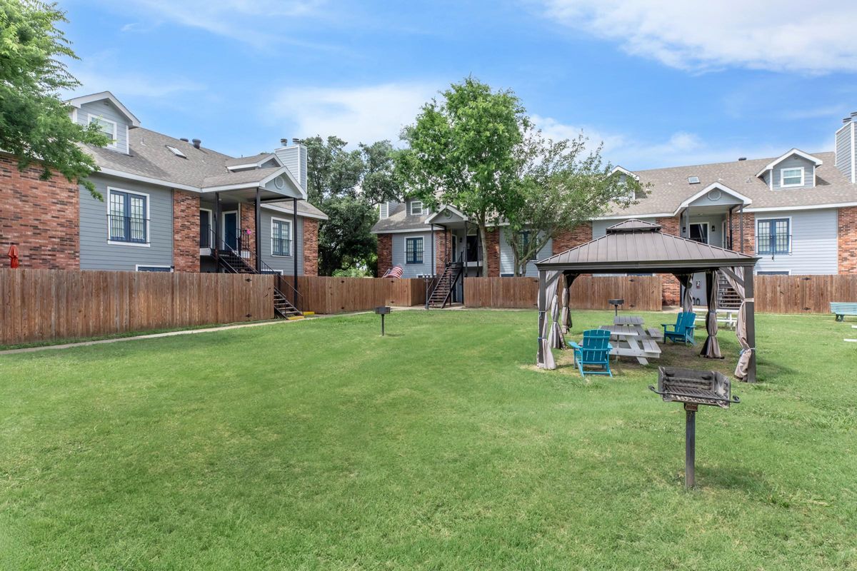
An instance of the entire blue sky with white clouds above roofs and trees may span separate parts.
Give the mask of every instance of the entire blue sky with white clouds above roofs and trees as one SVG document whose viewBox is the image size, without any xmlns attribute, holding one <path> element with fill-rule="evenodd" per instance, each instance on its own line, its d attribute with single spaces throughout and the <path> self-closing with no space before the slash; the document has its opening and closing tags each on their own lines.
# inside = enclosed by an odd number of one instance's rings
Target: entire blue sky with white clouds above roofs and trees
<svg viewBox="0 0 857 571">
<path fill-rule="evenodd" d="M 628 169 L 830 150 L 857 110 L 857 3 L 67 0 L 80 92 L 233 155 L 398 139 L 473 74 Z M 716 5 L 715 5 L 716 4 Z"/>
</svg>

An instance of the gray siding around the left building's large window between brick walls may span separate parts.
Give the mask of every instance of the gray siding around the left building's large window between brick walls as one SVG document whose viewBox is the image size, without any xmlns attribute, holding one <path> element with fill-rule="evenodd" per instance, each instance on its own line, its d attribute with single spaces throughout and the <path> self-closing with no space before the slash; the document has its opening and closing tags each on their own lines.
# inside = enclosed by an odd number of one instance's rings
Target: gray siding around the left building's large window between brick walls
<svg viewBox="0 0 857 571">
<path fill-rule="evenodd" d="M 135 270 L 135 265 L 172 265 L 172 191 L 140 182 L 93 175 L 104 201 L 81 187 L 81 270 Z M 107 243 L 107 187 L 148 194 L 149 244 Z"/>
</svg>

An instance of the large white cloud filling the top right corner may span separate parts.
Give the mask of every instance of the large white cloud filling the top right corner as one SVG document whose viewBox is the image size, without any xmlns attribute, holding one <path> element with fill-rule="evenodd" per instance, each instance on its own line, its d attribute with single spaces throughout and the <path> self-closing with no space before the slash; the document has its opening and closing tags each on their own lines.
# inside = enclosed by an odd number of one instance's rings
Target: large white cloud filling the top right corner
<svg viewBox="0 0 857 571">
<path fill-rule="evenodd" d="M 539 0 L 568 27 L 692 71 L 857 71 L 857 3 L 842 0 Z"/>
</svg>

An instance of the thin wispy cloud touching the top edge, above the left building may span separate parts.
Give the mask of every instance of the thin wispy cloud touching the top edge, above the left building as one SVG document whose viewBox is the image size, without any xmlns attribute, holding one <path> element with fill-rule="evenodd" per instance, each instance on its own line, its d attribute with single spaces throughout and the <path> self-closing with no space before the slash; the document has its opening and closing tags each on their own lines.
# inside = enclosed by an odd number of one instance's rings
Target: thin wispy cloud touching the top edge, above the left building
<svg viewBox="0 0 857 571">
<path fill-rule="evenodd" d="M 314 15 L 325 0 L 129 0 L 141 15 L 198 27 L 252 45 L 325 47 L 296 38 L 296 19 Z"/>
</svg>

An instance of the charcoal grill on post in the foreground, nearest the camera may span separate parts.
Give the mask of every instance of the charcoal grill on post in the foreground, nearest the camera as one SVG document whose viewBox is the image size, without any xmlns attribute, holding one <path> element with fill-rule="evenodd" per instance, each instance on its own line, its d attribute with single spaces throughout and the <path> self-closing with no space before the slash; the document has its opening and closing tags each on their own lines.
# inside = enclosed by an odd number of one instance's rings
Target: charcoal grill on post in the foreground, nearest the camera
<svg viewBox="0 0 857 571">
<path fill-rule="evenodd" d="M 658 367 L 657 389 L 649 390 L 664 402 L 682 402 L 685 406 L 685 487 L 696 485 L 696 412 L 699 405 L 728 408 L 740 402 L 732 396 L 729 378 L 716 371 L 694 371 L 674 367 Z"/>
</svg>

